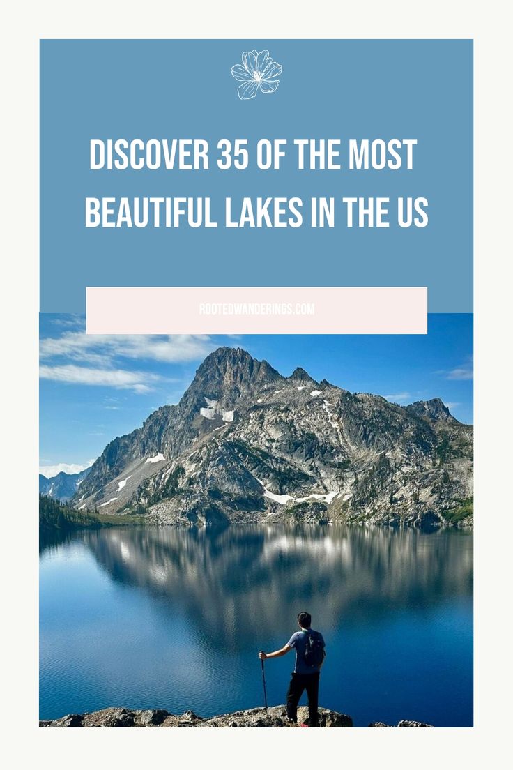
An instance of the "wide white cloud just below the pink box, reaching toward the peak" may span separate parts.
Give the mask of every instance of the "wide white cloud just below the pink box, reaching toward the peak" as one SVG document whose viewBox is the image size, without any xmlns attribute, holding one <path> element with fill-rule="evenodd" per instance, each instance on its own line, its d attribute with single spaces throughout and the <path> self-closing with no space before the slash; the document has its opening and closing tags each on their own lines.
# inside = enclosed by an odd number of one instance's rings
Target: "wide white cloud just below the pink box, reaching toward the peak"
<svg viewBox="0 0 513 770">
<path fill-rule="evenodd" d="M 116 357 L 181 363 L 205 358 L 215 347 L 206 334 L 162 336 L 66 331 L 61 336 L 41 340 L 39 354 L 43 360 L 65 357 L 96 366 L 108 365 Z"/>
</svg>

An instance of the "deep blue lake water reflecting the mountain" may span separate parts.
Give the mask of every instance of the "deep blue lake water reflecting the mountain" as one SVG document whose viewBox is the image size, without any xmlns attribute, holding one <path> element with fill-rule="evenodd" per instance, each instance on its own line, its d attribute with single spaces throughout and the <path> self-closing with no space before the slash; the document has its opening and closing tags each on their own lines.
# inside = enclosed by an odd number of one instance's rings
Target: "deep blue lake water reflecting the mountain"
<svg viewBox="0 0 513 770">
<path fill-rule="evenodd" d="M 378 527 L 131 528 L 41 542 L 40 717 L 263 705 L 258 649 L 311 612 L 320 704 L 472 725 L 472 536 Z M 265 664 L 285 702 L 293 652 Z M 304 702 L 304 701 L 301 701 Z"/>
</svg>

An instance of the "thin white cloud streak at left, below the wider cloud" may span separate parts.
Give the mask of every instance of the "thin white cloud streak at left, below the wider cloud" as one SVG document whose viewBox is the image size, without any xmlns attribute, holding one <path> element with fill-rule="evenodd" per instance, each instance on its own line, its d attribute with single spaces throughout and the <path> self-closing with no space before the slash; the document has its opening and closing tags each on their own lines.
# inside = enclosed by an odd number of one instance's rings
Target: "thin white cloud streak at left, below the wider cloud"
<svg viewBox="0 0 513 770">
<path fill-rule="evenodd" d="M 43 380 L 74 383 L 75 385 L 103 385 L 119 390 L 133 390 L 134 393 L 149 393 L 153 390 L 148 383 L 158 383 L 162 377 L 149 372 L 135 372 L 124 369 L 92 369 L 65 364 L 62 367 L 43 365 L 39 367 L 39 377 Z"/>
</svg>

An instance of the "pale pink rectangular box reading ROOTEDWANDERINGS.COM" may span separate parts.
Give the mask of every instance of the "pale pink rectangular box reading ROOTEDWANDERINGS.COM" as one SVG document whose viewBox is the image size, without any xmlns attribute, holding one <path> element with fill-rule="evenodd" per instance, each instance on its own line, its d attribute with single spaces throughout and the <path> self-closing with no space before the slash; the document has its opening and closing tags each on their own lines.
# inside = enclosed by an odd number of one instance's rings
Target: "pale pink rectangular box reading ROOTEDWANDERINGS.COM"
<svg viewBox="0 0 513 770">
<path fill-rule="evenodd" d="M 88 334 L 426 334 L 425 286 L 88 286 Z"/>
</svg>

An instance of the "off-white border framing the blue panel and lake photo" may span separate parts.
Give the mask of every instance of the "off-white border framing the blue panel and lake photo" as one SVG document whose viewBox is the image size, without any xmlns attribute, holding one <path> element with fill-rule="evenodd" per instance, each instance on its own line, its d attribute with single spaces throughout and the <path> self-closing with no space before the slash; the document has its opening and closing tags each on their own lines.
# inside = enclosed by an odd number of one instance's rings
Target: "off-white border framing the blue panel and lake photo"
<svg viewBox="0 0 513 770">
<path fill-rule="evenodd" d="M 244 10 L 248 8 L 248 10 Z M 251 14 L 249 14 L 251 10 Z M 4 681 L 2 724 L 5 755 L 13 766 L 125 768 L 179 758 L 224 768 L 275 767 L 303 758 L 358 768 L 441 768 L 493 762 L 508 738 L 505 667 L 508 634 L 508 493 L 501 480 L 511 451 L 505 416 L 509 411 L 509 363 L 504 330 L 511 303 L 507 228 L 511 220 L 505 181 L 511 121 L 508 4 L 461 0 L 361 0 L 315 4 L 296 0 L 249 8 L 240 2 L 189 2 L 181 7 L 147 0 L 125 2 L 18 2 L 7 12 L 2 44 L 5 82 L 3 164 L 7 180 L 2 213 L 7 227 L 2 333 L 4 500 L 2 639 Z M 38 312 L 38 39 L 40 38 L 464 38 L 475 40 L 475 352 L 476 352 L 476 527 L 475 527 L 475 727 L 428 731 L 187 730 L 57 731 L 37 725 L 37 512 L 36 407 Z M 5 104 L 7 102 L 7 104 Z M 507 133 L 508 132 L 508 133 Z M 502 265 L 506 267 L 502 268 Z M 502 269 L 501 269 L 502 268 Z M 501 273 L 504 273 L 502 276 Z M 508 340 L 509 341 L 509 340 Z M 503 494 L 505 490 L 505 494 Z M 4 492 L 5 495 L 5 492 Z M 26 527 L 22 551 L 8 527 Z M 502 537 L 498 537 L 500 534 Z M 17 576 L 13 581 L 13 574 Z M 501 596 L 501 591 L 504 595 Z M 511 673 L 511 668 L 510 668 Z M 194 739 L 192 738 L 194 736 Z M 292 737 L 295 736 L 295 737 Z M 298 746 L 298 743 L 300 746 Z M 308 746 L 306 745 L 308 743 Z M 502 763 L 501 763 L 502 764 Z"/>
</svg>

